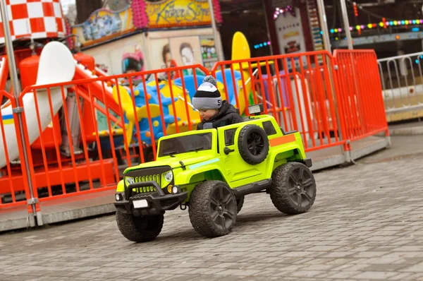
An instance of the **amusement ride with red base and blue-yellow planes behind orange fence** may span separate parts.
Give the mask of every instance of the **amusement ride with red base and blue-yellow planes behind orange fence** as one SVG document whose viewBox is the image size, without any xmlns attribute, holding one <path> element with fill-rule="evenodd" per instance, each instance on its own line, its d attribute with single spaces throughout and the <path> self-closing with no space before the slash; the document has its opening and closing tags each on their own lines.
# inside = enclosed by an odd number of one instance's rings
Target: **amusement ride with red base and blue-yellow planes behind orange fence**
<svg viewBox="0 0 423 281">
<path fill-rule="evenodd" d="M 56 2 L 55 0 L 51 1 Z M 98 160 L 99 151 L 104 153 L 107 149 L 111 149 L 110 144 L 108 148 L 102 148 L 104 144 L 101 141 L 98 143 L 98 136 L 100 139 L 109 140 L 111 133 L 116 151 L 125 146 L 138 150 L 143 149 L 147 155 L 149 154 L 146 160 L 152 160 L 154 156 L 152 156 L 151 147 L 161 136 L 194 130 L 200 122 L 200 114 L 192 108 L 190 100 L 195 93 L 196 85 L 202 83 L 207 73 L 204 73 L 204 76 L 173 77 L 171 81 L 167 79 L 166 75 L 160 76 L 158 79 L 145 77 L 145 85 L 142 82 L 134 84 L 133 91 L 128 85 L 116 85 L 117 79 L 75 83 L 75 85 L 65 86 L 63 91 L 60 87 L 49 88 L 44 92 L 37 90 L 37 101 L 35 101 L 32 90 L 25 92 L 25 88 L 32 85 L 106 77 L 106 73 L 95 66 L 92 56 L 83 54 L 79 50 L 72 50 L 73 54 L 71 54 L 64 44 L 58 42 L 58 40 L 63 41 L 63 38 L 60 39 L 57 32 L 51 36 L 49 33 L 46 34 L 45 37 L 37 37 L 30 32 L 26 37 L 20 37 L 13 42 L 16 66 L 20 73 L 20 83 L 24 89 L 23 107 L 37 189 L 46 186 L 63 186 L 63 184 L 74 185 L 75 168 L 78 180 L 88 181 L 89 176 L 85 172 L 87 166 L 90 167 L 90 177 L 99 179 L 102 186 L 116 184 L 114 160 L 108 157 L 104 157 L 107 159 L 102 161 Z M 237 52 L 233 52 L 233 59 L 250 58 L 250 47 L 245 36 L 240 32 L 235 33 L 233 37 L 234 49 Z M 66 61 L 66 56 L 73 56 L 73 59 Z M 244 112 L 247 103 L 244 97 L 249 96 L 252 90 L 250 72 L 247 71 L 248 65 L 245 67 L 246 69 L 240 69 L 240 66 L 238 68 L 234 66 L 233 71 L 228 68 L 214 73 L 223 99 L 228 97 L 231 104 L 238 105 L 240 112 Z M 257 64 L 250 67 L 257 67 Z M 4 51 L 0 59 L 0 101 L 7 95 L 5 95 L 5 86 L 8 72 L 7 56 Z M 53 76 L 56 79 L 49 79 Z M 223 76 L 228 85 L 227 92 L 223 87 Z M 241 76 L 247 81 L 245 89 L 242 86 Z M 234 87 L 238 89 L 234 89 Z M 246 95 L 243 94 L 244 90 Z M 238 96 L 238 99 L 235 98 L 235 95 Z M 63 106 L 65 97 L 66 102 Z M 80 97 L 85 98 L 81 99 Z M 133 100 L 135 100 L 135 104 L 133 104 Z M 111 131 L 98 131 L 97 135 L 98 125 L 94 103 L 106 104 L 106 107 L 109 108 L 109 112 L 99 110 L 98 107 L 97 110 L 102 114 L 107 114 L 108 119 L 114 121 Z M 4 130 L 0 130 L 0 195 L 2 198 L 4 194 L 10 193 L 11 181 L 13 181 L 15 192 L 23 191 L 23 186 L 25 186 L 23 184 L 25 177 L 23 177 L 19 161 L 19 141 L 13 122 L 12 105 L 11 100 L 6 100 L 1 104 L 0 109 L 4 128 Z M 124 122 L 119 120 L 121 109 Z M 66 112 L 69 124 L 63 121 Z M 150 120 L 148 116 L 151 117 Z M 125 130 L 119 124 L 124 124 Z M 42 131 L 41 134 L 40 131 Z M 124 132 L 126 132 L 125 137 L 123 137 Z M 7 148 L 2 136 L 6 138 Z M 70 145 L 68 136 L 71 136 L 73 145 Z M 142 143 L 138 143 L 139 139 Z M 6 151 L 8 162 L 6 162 Z M 90 153 L 88 162 L 84 151 Z M 121 161 L 121 159 L 118 160 Z M 46 162 L 48 165 L 45 164 Z M 73 162 L 76 167 L 73 167 Z M 102 171 L 105 172 L 106 177 L 100 176 Z M 49 173 L 49 179 L 46 179 L 46 173 Z M 39 196 L 42 195 L 39 194 Z"/>
</svg>

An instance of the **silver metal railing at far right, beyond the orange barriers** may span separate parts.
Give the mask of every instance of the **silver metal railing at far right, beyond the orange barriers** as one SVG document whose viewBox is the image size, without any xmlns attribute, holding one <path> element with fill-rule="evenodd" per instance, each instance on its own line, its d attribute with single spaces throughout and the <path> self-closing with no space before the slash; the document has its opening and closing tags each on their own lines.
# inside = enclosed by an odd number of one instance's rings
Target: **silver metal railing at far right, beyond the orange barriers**
<svg viewBox="0 0 423 281">
<path fill-rule="evenodd" d="M 379 59 L 388 121 L 423 116 L 423 52 Z"/>
</svg>

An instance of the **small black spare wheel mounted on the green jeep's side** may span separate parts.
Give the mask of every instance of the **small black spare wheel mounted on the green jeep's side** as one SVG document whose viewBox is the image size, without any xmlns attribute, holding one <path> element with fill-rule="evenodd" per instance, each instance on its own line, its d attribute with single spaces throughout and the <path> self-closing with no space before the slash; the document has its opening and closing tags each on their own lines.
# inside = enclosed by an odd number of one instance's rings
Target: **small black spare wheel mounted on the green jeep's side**
<svg viewBox="0 0 423 281">
<path fill-rule="evenodd" d="M 251 165 L 259 164 L 269 153 L 269 138 L 257 125 L 243 126 L 238 136 L 238 150 L 245 162 Z"/>
</svg>

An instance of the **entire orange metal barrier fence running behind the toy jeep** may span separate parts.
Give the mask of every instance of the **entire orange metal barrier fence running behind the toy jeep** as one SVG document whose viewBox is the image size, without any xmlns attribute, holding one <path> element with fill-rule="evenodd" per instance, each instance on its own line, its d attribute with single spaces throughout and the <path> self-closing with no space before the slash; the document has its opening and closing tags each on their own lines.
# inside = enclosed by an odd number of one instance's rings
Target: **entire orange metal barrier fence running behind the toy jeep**
<svg viewBox="0 0 423 281">
<path fill-rule="evenodd" d="M 348 151 L 350 141 L 388 133 L 373 51 L 266 56 L 221 61 L 212 71 L 181 66 L 37 85 L 19 96 L 23 132 L 16 113 L 7 115 L 13 121 L 0 119 L 0 209 L 30 203 L 39 212 L 40 202 L 115 189 L 126 167 L 154 160 L 161 136 L 196 128 L 200 114 L 191 100 L 209 73 L 240 114 L 264 104 L 284 131 L 301 133 L 306 151 Z M 3 94 L 11 102 L 1 106 L 5 116 L 16 102 Z M 23 133 L 25 143 L 6 138 L 12 131 Z M 29 181 L 36 201 L 28 201 Z"/>
</svg>

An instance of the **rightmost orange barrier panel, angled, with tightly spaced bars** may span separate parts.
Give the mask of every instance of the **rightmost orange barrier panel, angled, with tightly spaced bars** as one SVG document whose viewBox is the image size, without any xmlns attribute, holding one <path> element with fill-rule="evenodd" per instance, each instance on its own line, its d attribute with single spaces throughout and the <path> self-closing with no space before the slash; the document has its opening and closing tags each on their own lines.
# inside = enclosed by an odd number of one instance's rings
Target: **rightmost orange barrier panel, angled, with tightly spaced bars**
<svg viewBox="0 0 423 281">
<path fill-rule="evenodd" d="M 335 50 L 333 58 L 344 138 L 354 141 L 379 132 L 389 136 L 374 50 Z"/>
</svg>

